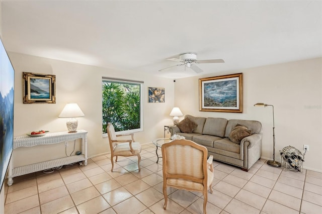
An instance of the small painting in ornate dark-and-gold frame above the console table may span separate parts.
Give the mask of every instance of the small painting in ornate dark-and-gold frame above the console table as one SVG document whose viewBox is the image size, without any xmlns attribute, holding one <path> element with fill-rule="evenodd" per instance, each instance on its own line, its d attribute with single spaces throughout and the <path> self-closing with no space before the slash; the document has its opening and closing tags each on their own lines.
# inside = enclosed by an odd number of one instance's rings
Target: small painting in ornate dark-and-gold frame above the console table
<svg viewBox="0 0 322 214">
<path fill-rule="evenodd" d="M 23 101 L 31 103 L 56 103 L 56 76 L 23 72 Z"/>
</svg>

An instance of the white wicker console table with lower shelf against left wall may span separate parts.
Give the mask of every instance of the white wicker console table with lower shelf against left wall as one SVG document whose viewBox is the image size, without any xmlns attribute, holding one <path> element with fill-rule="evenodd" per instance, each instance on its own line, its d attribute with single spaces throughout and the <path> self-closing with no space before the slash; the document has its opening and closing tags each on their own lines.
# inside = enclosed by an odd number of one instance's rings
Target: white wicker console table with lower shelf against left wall
<svg viewBox="0 0 322 214">
<path fill-rule="evenodd" d="M 87 165 L 87 131 L 86 130 L 77 130 L 75 133 L 66 132 L 53 132 L 47 133 L 45 136 L 41 137 L 29 137 L 29 136 L 20 136 L 14 137 L 14 149 L 18 147 L 31 147 L 37 145 L 48 145 L 56 144 L 64 141 L 73 141 L 76 139 L 82 139 L 82 154 L 81 155 L 72 155 L 69 157 L 58 158 L 54 160 L 49 160 L 41 163 L 30 164 L 26 166 L 20 166 L 14 168 L 14 154 L 11 156 L 11 160 L 8 168 L 8 185 L 13 184 L 13 178 L 29 174 L 32 172 L 38 172 L 45 169 L 51 169 L 54 167 L 81 162 L 84 161 L 84 165 Z"/>
</svg>

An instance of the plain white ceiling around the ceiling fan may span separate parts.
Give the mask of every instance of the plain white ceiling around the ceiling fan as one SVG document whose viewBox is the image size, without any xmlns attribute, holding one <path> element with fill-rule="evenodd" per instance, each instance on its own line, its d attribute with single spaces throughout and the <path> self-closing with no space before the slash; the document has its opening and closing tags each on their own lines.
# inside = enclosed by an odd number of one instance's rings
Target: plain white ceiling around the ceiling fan
<svg viewBox="0 0 322 214">
<path fill-rule="evenodd" d="M 182 78 L 322 56 L 322 1 L 2 1 L 8 51 Z"/>
</svg>

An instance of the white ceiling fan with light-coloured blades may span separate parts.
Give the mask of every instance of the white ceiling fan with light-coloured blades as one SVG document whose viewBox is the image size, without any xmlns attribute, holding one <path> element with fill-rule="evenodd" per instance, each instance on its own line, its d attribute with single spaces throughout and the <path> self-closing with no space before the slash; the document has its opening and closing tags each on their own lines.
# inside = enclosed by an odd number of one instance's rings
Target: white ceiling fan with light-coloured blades
<svg viewBox="0 0 322 214">
<path fill-rule="evenodd" d="M 225 61 L 223 61 L 223 59 L 197 60 L 197 54 L 196 53 L 183 53 L 183 54 L 181 54 L 179 56 L 179 59 L 178 58 L 168 58 L 168 60 L 181 62 L 182 64 L 178 64 L 178 65 L 170 66 L 170 67 L 167 67 L 167 68 L 163 68 L 163 69 L 160 69 L 159 71 L 163 71 L 163 70 L 166 70 L 168 68 L 184 65 L 185 70 L 188 67 L 188 68 L 191 68 L 192 70 L 194 70 L 196 73 L 201 73 L 201 72 L 203 72 L 203 70 L 201 68 L 199 68 L 196 64 L 199 64 L 199 63 L 222 63 L 222 62 L 225 62 Z"/>
</svg>

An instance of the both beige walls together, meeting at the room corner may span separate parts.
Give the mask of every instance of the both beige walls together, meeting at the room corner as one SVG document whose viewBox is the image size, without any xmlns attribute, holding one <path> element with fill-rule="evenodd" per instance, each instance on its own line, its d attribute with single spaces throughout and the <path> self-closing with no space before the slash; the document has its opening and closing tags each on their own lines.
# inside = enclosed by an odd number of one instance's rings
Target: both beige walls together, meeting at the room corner
<svg viewBox="0 0 322 214">
<path fill-rule="evenodd" d="M 273 121 L 271 107 L 254 107 L 256 102 L 274 105 L 276 159 L 278 151 L 291 145 L 302 151 L 309 145 L 304 168 L 322 171 L 320 152 L 322 131 L 322 59 L 309 59 L 284 64 L 269 65 L 227 73 L 214 73 L 199 77 L 177 79 L 155 78 L 127 71 L 115 71 L 93 66 L 51 60 L 41 57 L 10 53 L 15 67 L 15 136 L 32 130 L 64 131 L 65 119 L 57 118 L 67 102 L 77 102 L 85 113 L 79 118 L 78 129 L 89 131 L 89 156 L 109 151 L 107 139 L 102 138 L 101 78 L 102 76 L 137 79 L 144 81 L 144 131 L 136 133 L 141 143 L 163 137 L 163 125 L 171 124 L 169 113 L 174 105 L 183 114 L 227 119 L 258 120 L 263 125 L 262 157 L 272 158 Z M 22 72 L 56 75 L 56 104 L 23 104 Z M 242 72 L 244 75 L 244 113 L 199 112 L 199 82 L 202 77 Z M 165 103 L 148 103 L 147 87 L 165 87 Z M 176 97 L 176 98 L 174 98 Z M 67 153 L 73 149 L 69 143 Z M 76 147 L 77 149 L 77 147 Z M 64 157 L 63 144 L 43 148 L 16 149 L 15 166 L 27 162 Z M 27 157 L 27 160 L 26 160 Z"/>
</svg>

